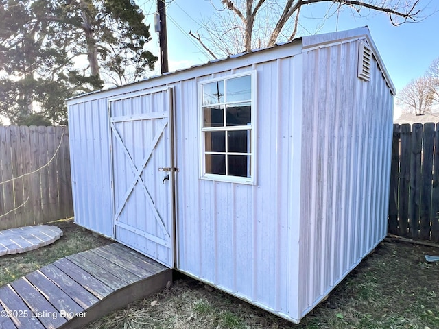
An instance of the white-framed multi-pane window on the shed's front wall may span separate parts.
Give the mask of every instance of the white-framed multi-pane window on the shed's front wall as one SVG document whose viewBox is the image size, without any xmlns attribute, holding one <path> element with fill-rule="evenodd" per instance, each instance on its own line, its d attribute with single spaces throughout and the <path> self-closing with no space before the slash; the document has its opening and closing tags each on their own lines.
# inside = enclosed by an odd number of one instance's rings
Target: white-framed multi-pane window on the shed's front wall
<svg viewBox="0 0 439 329">
<path fill-rule="evenodd" d="M 256 73 L 200 82 L 202 178 L 254 183 Z"/>
</svg>

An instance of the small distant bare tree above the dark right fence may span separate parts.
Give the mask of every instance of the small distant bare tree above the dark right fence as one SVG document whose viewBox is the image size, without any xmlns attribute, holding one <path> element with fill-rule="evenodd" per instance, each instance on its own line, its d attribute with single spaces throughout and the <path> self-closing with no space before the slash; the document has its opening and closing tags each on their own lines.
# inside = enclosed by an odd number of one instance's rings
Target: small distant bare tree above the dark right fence
<svg viewBox="0 0 439 329">
<path fill-rule="evenodd" d="M 434 79 L 425 75 L 406 84 L 396 98 L 404 112 L 420 115 L 431 112 L 434 93 Z"/>
</svg>

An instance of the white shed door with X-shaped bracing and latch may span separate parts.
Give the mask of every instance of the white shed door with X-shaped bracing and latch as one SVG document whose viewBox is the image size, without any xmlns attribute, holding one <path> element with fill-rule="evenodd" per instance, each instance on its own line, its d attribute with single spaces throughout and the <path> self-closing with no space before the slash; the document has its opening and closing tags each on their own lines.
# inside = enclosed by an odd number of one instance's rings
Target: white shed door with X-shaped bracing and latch
<svg viewBox="0 0 439 329">
<path fill-rule="evenodd" d="M 115 240 L 173 267 L 172 89 L 108 103 Z"/>
</svg>

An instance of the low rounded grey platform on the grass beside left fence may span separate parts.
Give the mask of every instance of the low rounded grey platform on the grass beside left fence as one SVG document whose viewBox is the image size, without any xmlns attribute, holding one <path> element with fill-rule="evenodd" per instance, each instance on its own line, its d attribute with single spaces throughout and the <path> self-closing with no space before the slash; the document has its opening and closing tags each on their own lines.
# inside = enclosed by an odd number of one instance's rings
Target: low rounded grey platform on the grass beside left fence
<svg viewBox="0 0 439 329">
<path fill-rule="evenodd" d="M 62 236 L 57 226 L 36 225 L 0 231 L 0 256 L 19 254 L 50 245 Z"/>
</svg>

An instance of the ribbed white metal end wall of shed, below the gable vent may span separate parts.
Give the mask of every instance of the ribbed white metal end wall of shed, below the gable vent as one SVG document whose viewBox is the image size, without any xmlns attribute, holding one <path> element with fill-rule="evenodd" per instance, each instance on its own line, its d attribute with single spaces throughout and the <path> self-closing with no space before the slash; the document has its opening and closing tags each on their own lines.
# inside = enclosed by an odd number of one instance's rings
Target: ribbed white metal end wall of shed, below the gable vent
<svg viewBox="0 0 439 329">
<path fill-rule="evenodd" d="M 304 53 L 300 312 L 385 236 L 393 97 L 377 62 L 357 77 L 357 40 Z"/>
</svg>

